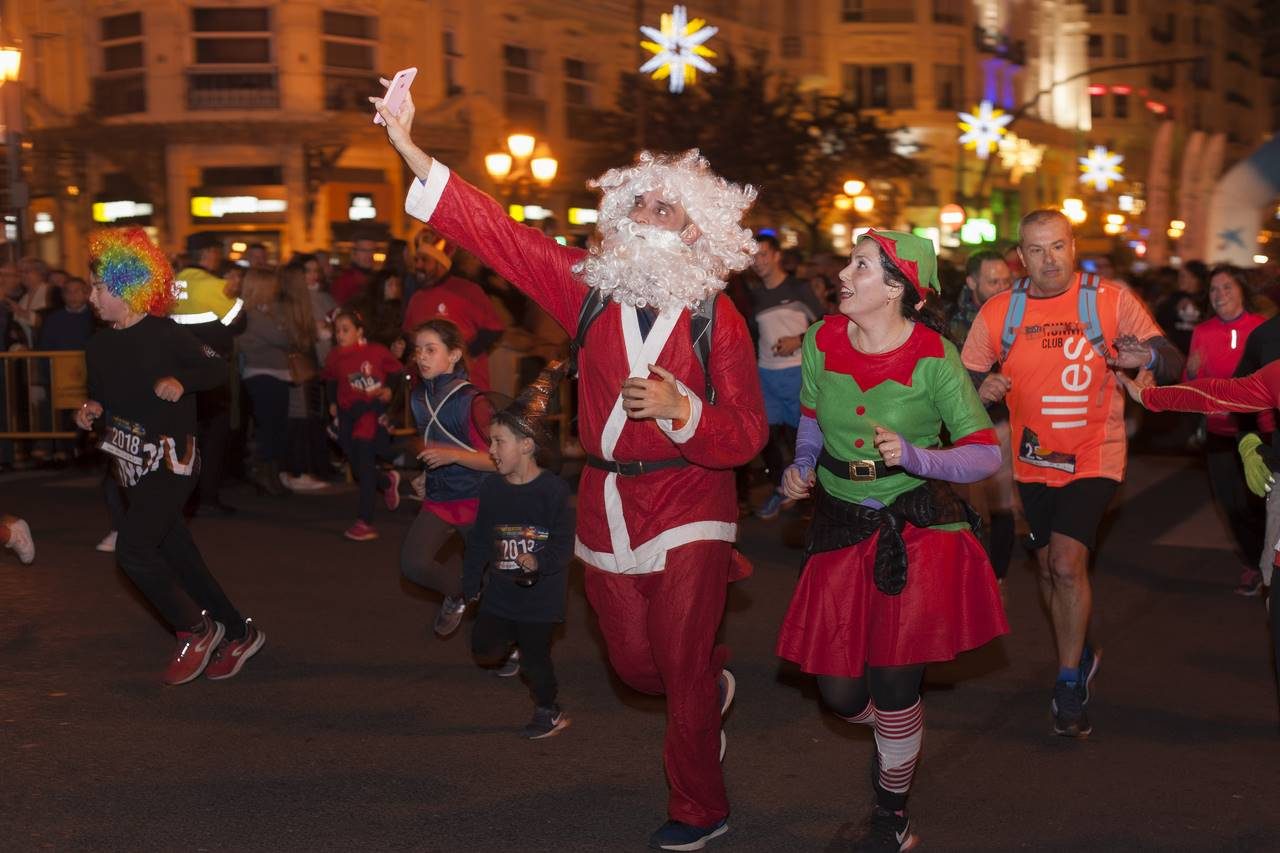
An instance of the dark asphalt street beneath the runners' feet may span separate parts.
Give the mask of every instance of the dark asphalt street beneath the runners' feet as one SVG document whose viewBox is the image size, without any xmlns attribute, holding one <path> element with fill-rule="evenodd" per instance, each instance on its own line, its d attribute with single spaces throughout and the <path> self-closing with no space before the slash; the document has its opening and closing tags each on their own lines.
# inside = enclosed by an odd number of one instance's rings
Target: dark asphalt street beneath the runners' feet
<svg viewBox="0 0 1280 853">
<path fill-rule="evenodd" d="M 165 688 L 172 637 L 93 551 L 87 471 L 0 478 L 37 558 L 0 552 L 0 847 L 5 850 L 640 850 L 666 818 L 660 699 L 609 671 L 575 569 L 554 647 L 572 726 L 517 736 L 532 703 L 476 667 L 467 630 L 402 581 L 416 507 L 342 538 L 355 494 L 229 491 L 193 530 L 268 643 L 229 680 Z M 737 702 L 717 850 L 842 850 L 870 807 L 869 731 L 824 713 L 773 654 L 795 583 L 795 514 L 745 521 L 755 575 L 723 634 Z M 1194 459 L 1139 456 L 1094 567 L 1094 734 L 1051 735 L 1056 667 L 1030 560 L 1010 635 L 929 669 L 911 813 L 937 850 L 1280 849 L 1280 726 L 1258 599 Z"/>
</svg>

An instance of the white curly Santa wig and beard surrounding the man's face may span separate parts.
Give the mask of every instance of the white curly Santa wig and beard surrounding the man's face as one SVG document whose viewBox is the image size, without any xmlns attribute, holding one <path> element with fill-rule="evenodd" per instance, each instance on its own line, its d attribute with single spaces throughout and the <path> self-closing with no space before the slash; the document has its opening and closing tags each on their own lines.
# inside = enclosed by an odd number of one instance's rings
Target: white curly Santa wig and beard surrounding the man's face
<svg viewBox="0 0 1280 853">
<path fill-rule="evenodd" d="M 609 169 L 588 186 L 603 193 L 602 240 L 573 272 L 618 302 L 692 307 L 722 291 L 728 275 L 746 269 L 755 255 L 755 238 L 742 227 L 755 187 L 717 175 L 698 149 L 643 151 L 635 164 Z M 685 209 L 701 232 L 692 245 L 673 232 L 631 222 L 636 197 L 650 191 Z"/>
</svg>

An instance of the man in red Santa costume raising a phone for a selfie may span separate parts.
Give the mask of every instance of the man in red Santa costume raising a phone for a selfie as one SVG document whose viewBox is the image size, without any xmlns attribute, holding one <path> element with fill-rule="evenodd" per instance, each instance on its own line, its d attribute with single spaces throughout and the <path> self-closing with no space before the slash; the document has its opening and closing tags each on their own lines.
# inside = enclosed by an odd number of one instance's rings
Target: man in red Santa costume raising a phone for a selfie
<svg viewBox="0 0 1280 853">
<path fill-rule="evenodd" d="M 614 670 L 636 690 L 667 697 L 669 820 L 649 845 L 701 849 L 728 830 L 721 719 L 733 678 L 716 631 L 728 581 L 745 574 L 732 548 L 733 467 L 768 434 L 746 324 L 721 295 L 755 252 L 741 225 L 755 190 L 717 177 L 698 151 L 644 152 L 591 182 L 603 193 L 600 240 L 590 252 L 570 248 L 516 224 L 419 149 L 411 100 L 398 114 L 370 100 L 417 175 L 404 202 L 411 215 L 480 257 L 571 336 L 589 288 L 608 300 L 579 356 L 588 467 L 575 552 L 588 566 L 588 599 Z M 714 301 L 709 377 L 691 333 L 691 311 L 705 300 Z"/>
</svg>

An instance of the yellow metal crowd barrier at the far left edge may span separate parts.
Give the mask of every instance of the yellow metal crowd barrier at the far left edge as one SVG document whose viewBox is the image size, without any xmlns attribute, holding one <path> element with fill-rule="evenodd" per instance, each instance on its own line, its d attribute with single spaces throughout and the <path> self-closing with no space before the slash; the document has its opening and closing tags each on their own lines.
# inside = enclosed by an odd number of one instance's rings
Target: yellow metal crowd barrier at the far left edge
<svg viewBox="0 0 1280 853">
<path fill-rule="evenodd" d="M 22 350 L 0 352 L 0 439 L 76 438 L 60 412 L 88 400 L 84 353 Z"/>
</svg>

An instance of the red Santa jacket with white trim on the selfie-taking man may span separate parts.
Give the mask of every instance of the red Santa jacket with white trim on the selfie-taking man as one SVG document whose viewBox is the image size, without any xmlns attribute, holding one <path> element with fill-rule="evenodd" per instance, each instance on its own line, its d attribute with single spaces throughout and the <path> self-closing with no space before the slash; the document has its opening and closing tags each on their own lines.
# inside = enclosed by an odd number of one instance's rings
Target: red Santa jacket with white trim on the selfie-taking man
<svg viewBox="0 0 1280 853">
<path fill-rule="evenodd" d="M 586 287 L 570 269 L 584 252 L 509 219 L 486 195 L 439 161 L 415 181 L 404 209 L 480 257 L 538 302 L 572 334 Z M 667 551 L 690 542 L 737 535 L 733 467 L 764 446 L 768 425 L 746 324 L 732 302 L 717 297 L 708 360 L 717 402 L 699 397 L 704 377 L 690 336 L 689 311 L 664 311 L 641 338 L 635 310 L 611 302 L 591 324 L 579 356 L 579 434 L 588 453 L 622 462 L 684 456 L 690 465 L 641 476 L 588 467 L 579 488 L 577 546 L 586 564 L 621 574 L 666 567 Z M 689 397 L 690 416 L 631 420 L 622 383 L 648 377 L 650 364 L 669 370 Z"/>
</svg>

